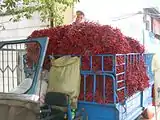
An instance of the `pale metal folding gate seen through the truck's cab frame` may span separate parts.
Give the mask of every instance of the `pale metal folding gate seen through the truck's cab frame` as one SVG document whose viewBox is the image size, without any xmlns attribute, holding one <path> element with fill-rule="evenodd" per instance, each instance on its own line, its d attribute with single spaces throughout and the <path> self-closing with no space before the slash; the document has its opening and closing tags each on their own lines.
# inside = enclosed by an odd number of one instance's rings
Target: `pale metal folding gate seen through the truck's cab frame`
<svg viewBox="0 0 160 120">
<path fill-rule="evenodd" d="M 24 79 L 24 44 L 8 44 L 0 49 L 0 92 L 9 92 Z"/>
</svg>

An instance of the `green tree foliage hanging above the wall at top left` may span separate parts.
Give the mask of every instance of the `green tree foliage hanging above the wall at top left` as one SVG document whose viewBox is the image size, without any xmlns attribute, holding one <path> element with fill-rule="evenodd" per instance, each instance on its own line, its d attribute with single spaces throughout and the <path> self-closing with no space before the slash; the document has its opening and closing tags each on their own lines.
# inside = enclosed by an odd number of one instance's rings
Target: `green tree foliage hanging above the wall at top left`
<svg viewBox="0 0 160 120">
<path fill-rule="evenodd" d="M 39 12 L 41 21 L 50 20 L 53 27 L 63 23 L 63 13 L 76 2 L 79 0 L 3 0 L 0 12 L 12 15 L 13 21 L 30 19 L 33 13 Z"/>
</svg>

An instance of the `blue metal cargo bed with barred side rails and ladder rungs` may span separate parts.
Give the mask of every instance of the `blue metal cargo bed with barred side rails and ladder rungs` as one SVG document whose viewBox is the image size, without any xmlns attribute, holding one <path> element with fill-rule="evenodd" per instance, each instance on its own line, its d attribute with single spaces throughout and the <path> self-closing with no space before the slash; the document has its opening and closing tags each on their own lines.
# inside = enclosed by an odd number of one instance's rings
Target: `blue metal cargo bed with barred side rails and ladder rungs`
<svg viewBox="0 0 160 120">
<path fill-rule="evenodd" d="M 86 94 L 86 76 L 92 75 L 93 76 L 93 98 L 92 101 L 86 101 L 85 97 L 83 100 L 79 101 L 78 103 L 78 109 L 79 110 L 85 110 L 88 116 L 88 120 L 135 120 L 145 108 L 148 107 L 149 104 L 152 103 L 152 86 L 154 83 L 153 80 L 153 73 L 151 71 L 151 62 L 153 54 L 137 54 L 137 53 L 131 53 L 131 54 L 116 54 L 116 55 L 96 55 L 101 58 L 101 70 L 94 71 L 93 65 L 92 65 L 92 58 L 93 56 L 89 56 L 90 58 L 90 69 L 88 70 L 82 70 L 81 75 L 83 77 L 84 81 L 84 95 Z M 110 70 L 104 70 L 105 61 L 104 59 L 106 57 L 110 57 L 112 59 L 112 68 Z M 120 57 L 120 58 L 119 58 Z M 126 69 L 127 64 L 133 64 L 136 62 L 136 64 L 141 64 L 141 59 L 144 59 L 145 66 L 147 69 L 147 74 L 150 78 L 150 86 L 149 88 L 146 88 L 144 91 L 137 91 L 133 96 L 127 97 L 127 89 L 126 85 L 121 86 L 118 88 L 118 83 L 126 81 L 119 80 L 119 75 L 126 75 Z M 117 59 L 121 59 L 124 62 L 118 63 Z M 116 70 L 116 67 L 123 66 L 123 71 L 119 72 Z M 112 89 L 113 89 L 113 103 L 108 104 L 99 104 L 95 102 L 94 96 L 96 94 L 96 76 L 101 75 L 105 79 L 105 77 L 110 77 L 112 79 Z M 125 77 L 124 77 L 125 78 Z M 106 98 L 106 92 L 105 91 L 105 84 L 106 80 L 103 79 L 104 89 L 103 89 L 103 97 Z M 117 93 L 119 91 L 124 92 L 124 99 L 125 101 L 123 103 L 117 102 Z"/>
</svg>

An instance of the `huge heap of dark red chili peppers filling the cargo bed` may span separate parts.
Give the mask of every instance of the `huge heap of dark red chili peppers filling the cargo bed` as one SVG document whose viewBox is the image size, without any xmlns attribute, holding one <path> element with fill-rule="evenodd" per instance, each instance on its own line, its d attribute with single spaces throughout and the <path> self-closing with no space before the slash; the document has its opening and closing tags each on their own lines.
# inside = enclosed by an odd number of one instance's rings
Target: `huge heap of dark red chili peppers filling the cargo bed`
<svg viewBox="0 0 160 120">
<path fill-rule="evenodd" d="M 78 25 L 65 25 L 55 28 L 36 30 L 29 38 L 37 37 L 49 37 L 49 45 L 46 53 L 46 60 L 44 63 L 44 69 L 48 68 L 49 61 L 47 56 L 49 55 L 83 55 L 82 57 L 82 70 L 90 69 L 89 67 L 89 55 L 96 54 L 127 54 L 127 53 L 143 53 L 144 46 L 142 46 L 137 40 L 124 36 L 119 29 L 112 28 L 109 25 L 100 25 L 92 22 L 85 22 Z M 36 62 L 36 52 L 38 48 L 35 46 L 27 46 L 28 64 L 31 61 Z M 32 56 L 32 57 L 31 57 Z M 110 70 L 112 68 L 112 59 L 105 58 L 104 69 Z M 137 91 L 142 91 L 149 85 L 149 78 L 146 74 L 146 68 L 143 58 L 140 59 L 141 64 L 136 62 L 132 65 L 127 65 L 126 73 L 126 86 L 128 96 L 133 95 Z M 123 58 L 117 59 L 118 63 L 123 62 Z M 98 57 L 93 57 L 93 71 L 101 69 L 101 60 Z M 131 70 L 132 69 L 132 70 Z M 117 68 L 117 71 L 123 71 L 123 68 Z M 97 75 L 96 94 L 93 96 L 93 76 L 87 76 L 86 87 L 86 100 L 91 101 L 92 98 L 98 103 L 113 102 L 113 89 L 112 81 L 110 78 L 106 78 L 106 98 L 103 93 L 103 81 L 102 76 Z M 119 76 L 119 79 L 124 79 L 123 76 Z M 84 99 L 83 91 L 83 76 L 81 83 L 81 92 L 79 99 Z M 119 86 L 123 86 L 120 84 Z M 117 92 L 119 101 L 124 100 L 124 91 Z"/>
</svg>

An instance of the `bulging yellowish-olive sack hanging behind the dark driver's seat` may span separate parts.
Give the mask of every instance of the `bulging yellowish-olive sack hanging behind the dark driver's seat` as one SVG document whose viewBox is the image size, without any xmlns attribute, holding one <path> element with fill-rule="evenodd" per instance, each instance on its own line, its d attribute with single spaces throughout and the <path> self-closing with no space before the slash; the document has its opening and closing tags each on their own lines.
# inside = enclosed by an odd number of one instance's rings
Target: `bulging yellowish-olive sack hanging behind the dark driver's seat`
<svg viewBox="0 0 160 120">
<path fill-rule="evenodd" d="M 64 56 L 52 60 L 48 92 L 68 94 L 71 99 L 72 108 L 77 108 L 80 80 L 80 58 Z"/>
</svg>

